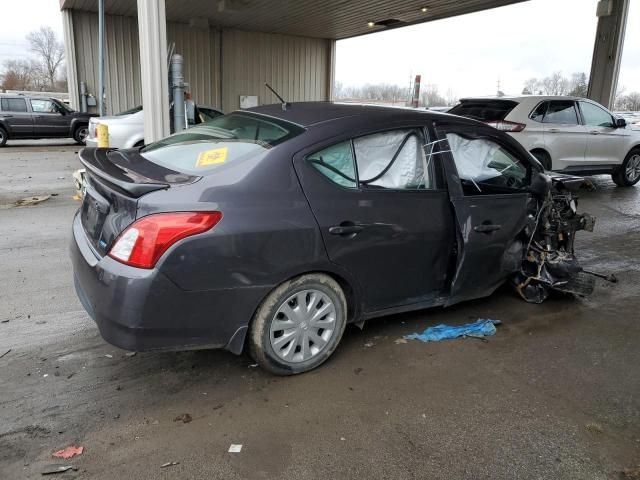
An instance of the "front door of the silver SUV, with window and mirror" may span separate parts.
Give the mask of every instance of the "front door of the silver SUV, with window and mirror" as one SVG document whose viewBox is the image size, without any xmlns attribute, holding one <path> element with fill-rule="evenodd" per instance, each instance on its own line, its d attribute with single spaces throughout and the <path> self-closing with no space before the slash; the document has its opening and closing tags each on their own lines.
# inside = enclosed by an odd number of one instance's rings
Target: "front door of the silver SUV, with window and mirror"
<svg viewBox="0 0 640 480">
<path fill-rule="evenodd" d="M 630 132 L 615 127 L 613 115 L 593 102 L 580 101 L 582 121 L 588 131 L 585 160 L 592 165 L 619 164 L 624 160 Z"/>
</svg>

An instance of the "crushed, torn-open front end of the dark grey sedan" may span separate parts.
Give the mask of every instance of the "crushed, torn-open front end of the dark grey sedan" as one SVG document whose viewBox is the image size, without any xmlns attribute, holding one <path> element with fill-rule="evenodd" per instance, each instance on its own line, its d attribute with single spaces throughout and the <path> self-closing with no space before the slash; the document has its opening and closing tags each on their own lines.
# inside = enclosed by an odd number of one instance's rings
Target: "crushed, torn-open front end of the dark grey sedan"
<svg viewBox="0 0 640 480">
<path fill-rule="evenodd" d="M 541 178 L 547 185 L 531 205 L 522 269 L 512 283 L 532 303 L 542 303 L 552 290 L 587 296 L 595 279 L 582 269 L 574 252 L 576 232 L 591 232 L 595 224 L 594 217 L 577 211 L 576 192 L 586 181 L 553 173 Z"/>
</svg>

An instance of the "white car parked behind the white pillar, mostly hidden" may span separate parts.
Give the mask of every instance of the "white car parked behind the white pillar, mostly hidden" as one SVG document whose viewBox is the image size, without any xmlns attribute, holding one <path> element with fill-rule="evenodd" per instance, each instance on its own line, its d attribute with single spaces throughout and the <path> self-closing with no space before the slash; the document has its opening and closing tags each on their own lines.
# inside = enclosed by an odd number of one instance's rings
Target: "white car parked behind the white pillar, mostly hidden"
<svg viewBox="0 0 640 480">
<path fill-rule="evenodd" d="M 213 107 L 198 105 L 195 111 L 195 124 L 208 122 L 223 115 Z M 88 147 L 97 147 L 97 126 L 104 124 L 109 127 L 110 148 L 132 148 L 144 145 L 144 113 L 142 105 L 113 116 L 96 117 L 89 122 Z"/>
</svg>

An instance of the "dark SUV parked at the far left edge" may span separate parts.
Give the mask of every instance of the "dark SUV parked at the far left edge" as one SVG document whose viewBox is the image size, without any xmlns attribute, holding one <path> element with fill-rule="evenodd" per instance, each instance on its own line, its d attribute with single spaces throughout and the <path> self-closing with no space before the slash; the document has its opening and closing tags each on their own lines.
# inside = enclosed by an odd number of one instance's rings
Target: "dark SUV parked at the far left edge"
<svg viewBox="0 0 640 480">
<path fill-rule="evenodd" d="M 55 98 L 0 94 L 0 147 L 13 139 L 73 138 L 85 143 L 89 119 Z"/>
</svg>

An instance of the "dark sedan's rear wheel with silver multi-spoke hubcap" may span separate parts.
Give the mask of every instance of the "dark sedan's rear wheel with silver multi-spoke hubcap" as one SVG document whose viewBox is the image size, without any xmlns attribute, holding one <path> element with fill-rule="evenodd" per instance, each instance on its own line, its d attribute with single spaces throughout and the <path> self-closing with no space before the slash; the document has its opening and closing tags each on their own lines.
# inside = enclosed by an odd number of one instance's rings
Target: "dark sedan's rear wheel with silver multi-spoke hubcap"
<svg viewBox="0 0 640 480">
<path fill-rule="evenodd" d="M 324 274 L 307 274 L 275 288 L 262 302 L 248 336 L 249 353 L 268 372 L 295 375 L 324 363 L 347 323 L 340 285 Z"/>
</svg>

